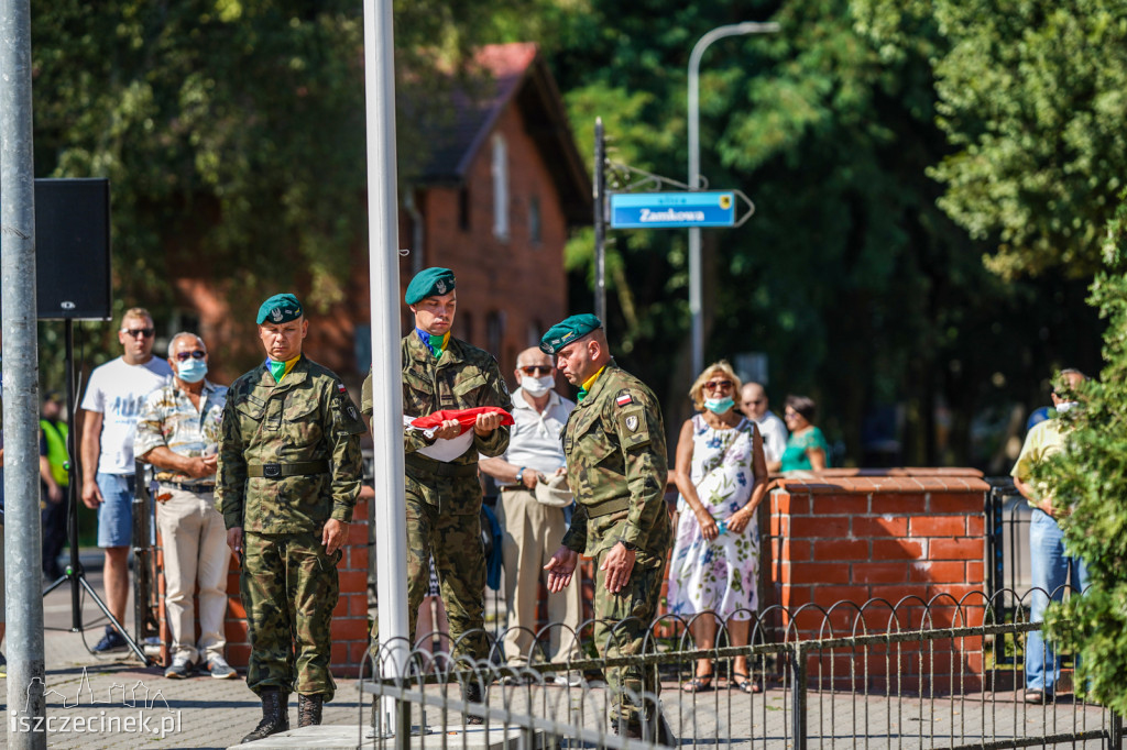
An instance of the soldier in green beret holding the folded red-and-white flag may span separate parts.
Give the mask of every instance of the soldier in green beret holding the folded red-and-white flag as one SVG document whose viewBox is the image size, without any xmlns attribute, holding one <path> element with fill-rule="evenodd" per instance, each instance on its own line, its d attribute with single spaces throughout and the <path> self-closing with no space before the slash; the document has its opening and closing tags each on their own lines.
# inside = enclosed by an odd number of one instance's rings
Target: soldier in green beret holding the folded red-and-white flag
<svg viewBox="0 0 1127 750">
<path fill-rule="evenodd" d="M 415 330 L 401 343 L 403 416 L 426 417 L 436 411 L 474 407 L 513 408 L 508 387 L 492 355 L 450 334 L 456 293 L 454 274 L 427 268 L 407 287 L 406 302 Z M 372 414 L 372 376 L 364 382 L 361 408 Z M 465 450 L 451 461 L 428 453 L 437 439 L 460 434 L 456 420 L 443 423 L 433 437 L 405 429 L 407 482 L 407 611 L 415 633 L 419 604 L 426 595 L 431 555 L 450 619 L 454 657 L 488 658 L 485 634 L 486 560 L 481 545 L 481 485 L 478 454 L 500 456 L 509 430 L 500 414 L 481 414 Z M 464 438 L 464 436 L 463 436 Z M 379 633 L 373 630 L 375 640 Z M 471 689 L 469 697 L 474 697 Z"/>
</svg>

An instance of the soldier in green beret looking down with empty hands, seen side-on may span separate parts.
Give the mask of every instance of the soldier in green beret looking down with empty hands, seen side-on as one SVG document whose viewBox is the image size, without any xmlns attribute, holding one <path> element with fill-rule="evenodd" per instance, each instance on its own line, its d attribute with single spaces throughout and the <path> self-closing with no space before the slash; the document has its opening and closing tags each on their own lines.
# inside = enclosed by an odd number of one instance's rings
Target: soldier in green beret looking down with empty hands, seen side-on
<svg viewBox="0 0 1127 750">
<path fill-rule="evenodd" d="M 604 658 L 642 653 L 657 615 L 673 532 L 665 509 L 668 457 L 657 398 L 611 357 L 602 322 L 573 315 L 553 325 L 540 348 L 556 355 L 564 376 L 580 386 L 579 405 L 564 428 L 568 483 L 578 502 L 562 546 L 544 569 L 548 588 L 571 580 L 579 554 L 595 559 L 595 646 Z M 620 625 L 621 623 L 621 625 Z M 660 690 L 655 669 L 607 670 L 615 694 L 611 722 L 628 736 L 653 738 Z M 645 722 L 644 722 L 645 720 Z"/>
</svg>

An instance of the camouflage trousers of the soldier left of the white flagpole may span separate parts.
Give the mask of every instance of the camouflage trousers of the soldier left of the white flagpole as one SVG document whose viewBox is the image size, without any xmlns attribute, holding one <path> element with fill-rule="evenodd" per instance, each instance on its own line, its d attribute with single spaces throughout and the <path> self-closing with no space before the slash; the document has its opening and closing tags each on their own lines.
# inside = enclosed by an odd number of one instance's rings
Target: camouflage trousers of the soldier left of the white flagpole
<svg viewBox="0 0 1127 750">
<path fill-rule="evenodd" d="M 243 550 L 239 587 L 250 635 L 247 687 L 331 700 L 337 686 L 329 673 L 329 628 L 340 593 L 340 552 L 327 555 L 320 534 L 311 532 L 247 533 Z"/>
</svg>

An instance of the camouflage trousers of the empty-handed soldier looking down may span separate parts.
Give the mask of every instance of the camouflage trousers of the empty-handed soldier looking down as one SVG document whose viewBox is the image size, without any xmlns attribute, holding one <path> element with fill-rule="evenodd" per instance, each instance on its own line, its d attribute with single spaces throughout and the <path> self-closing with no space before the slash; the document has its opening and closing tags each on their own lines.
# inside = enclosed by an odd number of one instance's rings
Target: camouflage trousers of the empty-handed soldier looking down
<svg viewBox="0 0 1127 750">
<path fill-rule="evenodd" d="M 639 655 L 645 653 L 650 625 L 657 615 L 657 604 L 662 598 L 662 581 L 665 579 L 666 562 L 657 568 L 635 565 L 630 581 L 618 593 L 606 590 L 606 574 L 600 569 L 610 550 L 595 557 L 595 648 L 605 659 Z M 649 650 L 655 650 L 650 637 Z M 654 705 L 641 705 L 644 693 L 656 696 L 662 691 L 657 667 L 648 669 L 641 664 L 609 667 L 606 684 L 611 689 L 612 706 L 610 720 L 623 720 L 631 724 L 641 721 L 645 712 L 647 721 L 655 716 Z"/>
</svg>

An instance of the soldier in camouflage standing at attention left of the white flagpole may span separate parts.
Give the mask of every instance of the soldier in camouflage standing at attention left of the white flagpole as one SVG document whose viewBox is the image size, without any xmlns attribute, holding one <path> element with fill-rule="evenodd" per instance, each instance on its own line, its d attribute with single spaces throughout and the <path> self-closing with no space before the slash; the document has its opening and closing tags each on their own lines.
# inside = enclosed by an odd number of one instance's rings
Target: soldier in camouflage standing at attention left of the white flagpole
<svg viewBox="0 0 1127 750">
<path fill-rule="evenodd" d="M 240 555 L 250 635 L 247 686 L 263 721 L 243 742 L 319 724 L 336 685 L 329 627 L 337 562 L 361 484 L 365 430 L 344 384 L 301 354 L 309 321 L 292 294 L 258 311 L 265 363 L 228 391 L 215 489 L 228 545 Z"/>
</svg>

